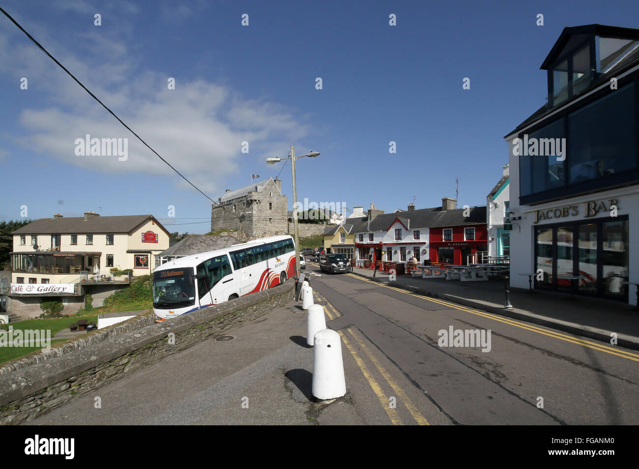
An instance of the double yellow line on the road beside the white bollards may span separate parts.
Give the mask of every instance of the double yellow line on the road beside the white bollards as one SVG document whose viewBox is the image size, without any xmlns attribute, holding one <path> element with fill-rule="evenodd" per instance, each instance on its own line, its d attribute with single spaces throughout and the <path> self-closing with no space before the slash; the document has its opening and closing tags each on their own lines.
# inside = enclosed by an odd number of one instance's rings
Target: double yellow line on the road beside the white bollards
<svg viewBox="0 0 639 469">
<path fill-rule="evenodd" d="M 315 294 L 315 295 L 319 301 L 326 302 L 326 304 L 323 307 L 324 307 L 325 313 L 327 314 L 330 320 L 333 320 L 334 318 L 338 318 L 339 316 L 341 316 L 341 313 L 339 313 L 339 311 L 337 311 L 337 309 L 335 309 L 335 307 L 327 299 L 325 299 L 319 294 Z M 406 407 L 408 412 L 410 412 L 410 414 L 413 416 L 413 419 L 415 419 L 415 422 L 417 422 L 417 424 L 428 425 L 429 423 L 426 420 L 426 417 L 424 417 L 424 415 L 422 415 L 419 412 L 419 410 L 417 409 L 417 406 L 415 406 L 413 404 L 413 401 L 411 401 L 410 398 L 408 398 L 408 396 L 406 395 L 406 392 L 404 392 L 404 390 L 397 384 L 397 382 L 392 378 L 392 376 L 390 376 L 390 373 L 383 367 L 383 365 L 375 357 L 375 355 L 371 353 L 371 350 L 366 345 L 366 340 L 361 336 L 360 332 L 356 332 L 355 329 L 352 327 L 347 327 L 346 331 L 349 332 L 350 335 L 346 334 L 346 332 L 344 331 L 337 331 L 337 332 L 339 332 L 339 335 L 341 336 L 342 341 L 344 342 L 344 345 L 346 345 L 346 348 L 348 348 L 348 351 L 351 353 L 351 355 L 353 355 L 355 362 L 357 362 L 357 365 L 362 370 L 364 377 L 368 381 L 369 385 L 371 385 L 373 392 L 375 393 L 377 398 L 380 400 L 380 404 L 382 408 L 385 410 L 385 412 L 387 413 L 387 415 L 389 416 L 390 422 L 393 425 L 404 424 L 404 422 L 401 420 L 401 417 L 399 417 L 399 413 L 397 413 L 396 406 L 391 405 L 392 403 L 396 405 L 397 401 L 400 401 L 404 405 L 404 407 Z M 385 396 L 384 392 L 381 389 L 381 385 L 377 382 L 377 380 L 374 378 L 373 373 L 371 373 L 369 368 L 366 366 L 366 362 L 364 362 L 363 357 L 360 356 L 360 354 L 358 353 L 356 346 L 359 346 L 360 350 L 364 352 L 364 355 L 371 362 L 373 362 L 373 365 L 375 366 L 375 368 L 378 369 L 381 376 L 383 376 L 386 382 L 390 385 L 392 390 L 395 392 L 396 396 Z M 394 397 L 395 399 L 391 400 L 390 397 Z"/>
</svg>

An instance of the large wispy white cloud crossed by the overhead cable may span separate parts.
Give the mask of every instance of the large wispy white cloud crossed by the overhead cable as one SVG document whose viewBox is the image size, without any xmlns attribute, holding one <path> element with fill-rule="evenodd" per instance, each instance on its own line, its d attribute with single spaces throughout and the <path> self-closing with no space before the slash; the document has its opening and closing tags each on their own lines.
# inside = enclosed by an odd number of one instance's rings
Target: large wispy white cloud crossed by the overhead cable
<svg viewBox="0 0 639 469">
<path fill-rule="evenodd" d="M 38 83 L 48 101 L 11 110 L 28 134 L 13 138 L 15 142 L 69 165 L 105 173 L 171 175 L 176 186 L 187 185 L 49 57 L 18 37 L 0 34 L 4 73 L 15 75 L 15 69 L 24 70 L 29 88 Z M 243 98 L 229 87 L 184 76 L 174 77 L 176 89 L 169 90 L 167 78 L 172 75 L 137 70 L 137 57 L 119 38 L 97 33 L 78 34 L 78 38 L 101 53 L 84 54 L 86 46 L 81 45 L 72 53 L 54 41 L 43 45 L 54 56 L 58 51 L 56 58 L 105 105 L 214 199 L 225 185 L 224 179 L 244 164 L 253 168 L 258 155 L 260 160 L 286 156 L 288 142 L 307 134 L 294 111 L 278 103 Z M 76 156 L 75 139 L 86 134 L 128 138 L 128 160 Z M 249 154 L 241 153 L 245 140 L 249 141 Z"/>
</svg>

